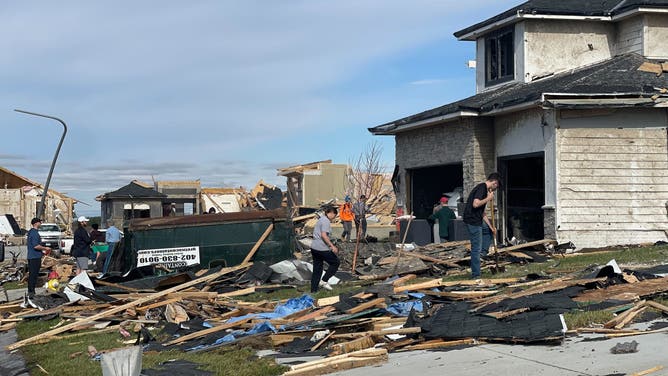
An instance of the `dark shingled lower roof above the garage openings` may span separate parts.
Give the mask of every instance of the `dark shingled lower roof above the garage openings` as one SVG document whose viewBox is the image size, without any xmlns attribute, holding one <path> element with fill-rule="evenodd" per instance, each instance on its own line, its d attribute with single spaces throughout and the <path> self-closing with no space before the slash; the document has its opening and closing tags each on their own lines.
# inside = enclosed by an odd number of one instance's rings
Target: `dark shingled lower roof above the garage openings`
<svg viewBox="0 0 668 376">
<path fill-rule="evenodd" d="M 643 64 L 657 64 L 638 54 L 616 56 L 601 63 L 584 68 L 569 70 L 533 82 L 515 82 L 498 89 L 485 91 L 474 96 L 436 107 L 415 115 L 369 128 L 375 135 L 390 135 L 401 132 L 416 123 L 444 121 L 459 116 L 485 116 L 517 105 L 543 104 L 543 96 L 572 95 L 590 97 L 633 97 L 652 98 L 635 105 L 655 105 L 657 95 L 665 97 L 661 89 L 668 88 L 666 74 L 639 70 Z M 661 95 L 663 94 L 663 95 Z"/>
</svg>

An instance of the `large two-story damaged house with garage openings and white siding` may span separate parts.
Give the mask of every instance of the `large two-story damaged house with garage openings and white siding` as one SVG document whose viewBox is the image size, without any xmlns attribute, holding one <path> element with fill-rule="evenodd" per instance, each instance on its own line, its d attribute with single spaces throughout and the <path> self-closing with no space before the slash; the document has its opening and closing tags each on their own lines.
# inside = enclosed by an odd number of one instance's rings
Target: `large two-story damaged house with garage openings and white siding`
<svg viewBox="0 0 668 376">
<path fill-rule="evenodd" d="M 369 129 L 408 212 L 499 171 L 501 237 L 667 240 L 668 2 L 531 0 L 454 35 L 476 94 Z"/>
</svg>

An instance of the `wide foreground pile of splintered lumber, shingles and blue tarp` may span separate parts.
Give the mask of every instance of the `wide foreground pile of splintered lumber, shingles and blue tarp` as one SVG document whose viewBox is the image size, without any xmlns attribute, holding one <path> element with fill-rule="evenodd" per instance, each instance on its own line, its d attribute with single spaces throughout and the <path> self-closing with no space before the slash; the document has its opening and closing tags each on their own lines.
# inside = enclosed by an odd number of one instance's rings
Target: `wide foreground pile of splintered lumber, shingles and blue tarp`
<svg viewBox="0 0 668 376">
<path fill-rule="evenodd" d="M 465 243 L 445 243 L 412 252 L 395 250 L 376 264 L 400 264 L 397 260 L 405 258 L 428 263 L 427 270 L 459 270 L 466 258 L 465 248 Z M 502 251 L 510 254 L 517 249 Z M 383 259 L 386 261 L 380 263 Z M 57 265 L 62 264 L 53 267 Z M 392 351 L 474 346 L 488 341 L 560 341 L 565 335 L 581 332 L 619 337 L 666 330 L 625 329 L 650 308 L 668 314 L 668 307 L 652 301 L 668 293 L 668 278 L 651 273 L 603 268 L 556 279 L 528 276 L 445 282 L 440 277 L 417 280 L 412 269 L 397 268 L 346 282 L 350 291 L 336 296 L 313 299 L 303 294 L 287 301 L 249 302 L 241 297 L 260 290 L 305 288 L 258 286 L 243 278 L 252 267 L 252 263 L 245 263 L 170 276 L 171 287 L 157 284 L 165 288 L 162 291 L 93 280 L 96 292 L 78 289 L 89 300 L 43 310 L 22 308 L 20 301 L 0 305 L 0 330 L 11 329 L 22 320 L 57 316 L 63 320 L 46 333 L 8 346 L 9 350 L 93 329 L 117 332 L 126 343 L 144 343 L 144 351 L 207 351 L 252 339 L 255 347 L 261 343 L 284 354 L 323 356 L 293 365 L 287 375 L 318 375 L 378 364 L 387 361 Z M 577 304 L 583 301 L 596 304 L 583 308 Z M 565 328 L 561 315 L 582 309 L 607 309 L 617 316 L 603 327 Z M 133 332 L 137 340 L 130 338 Z"/>
</svg>

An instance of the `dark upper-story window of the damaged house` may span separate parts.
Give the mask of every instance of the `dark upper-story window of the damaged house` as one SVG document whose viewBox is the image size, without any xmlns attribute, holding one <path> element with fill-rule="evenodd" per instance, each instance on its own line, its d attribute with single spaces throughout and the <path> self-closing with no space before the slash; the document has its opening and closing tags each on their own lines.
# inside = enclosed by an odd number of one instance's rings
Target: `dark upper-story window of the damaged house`
<svg viewBox="0 0 668 376">
<path fill-rule="evenodd" d="M 515 77 L 513 27 L 498 30 L 485 37 L 486 86 L 510 81 Z"/>
</svg>

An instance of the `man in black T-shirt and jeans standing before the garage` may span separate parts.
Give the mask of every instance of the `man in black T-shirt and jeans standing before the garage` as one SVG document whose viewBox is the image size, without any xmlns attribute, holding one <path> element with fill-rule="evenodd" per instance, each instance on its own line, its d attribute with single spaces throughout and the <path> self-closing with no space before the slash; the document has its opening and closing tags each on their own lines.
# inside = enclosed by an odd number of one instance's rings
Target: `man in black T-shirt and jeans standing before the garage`
<svg viewBox="0 0 668 376">
<path fill-rule="evenodd" d="M 494 199 L 494 191 L 501 185 L 501 175 L 496 172 L 489 174 L 487 180 L 471 190 L 464 208 L 464 223 L 471 237 L 471 277 L 480 278 L 480 253 L 487 254 L 492 234 L 496 236 L 496 228 L 492 226 L 485 213 L 488 202 Z"/>
</svg>

